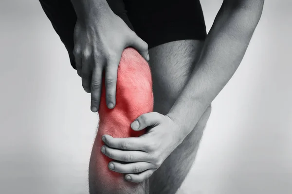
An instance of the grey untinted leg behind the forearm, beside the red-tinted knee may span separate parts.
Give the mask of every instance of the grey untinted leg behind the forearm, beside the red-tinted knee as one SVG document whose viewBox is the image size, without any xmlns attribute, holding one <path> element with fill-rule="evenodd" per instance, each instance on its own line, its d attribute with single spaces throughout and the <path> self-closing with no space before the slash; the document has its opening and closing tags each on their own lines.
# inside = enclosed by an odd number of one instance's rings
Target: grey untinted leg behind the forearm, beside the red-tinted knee
<svg viewBox="0 0 292 194">
<path fill-rule="evenodd" d="M 154 111 L 166 114 L 179 96 L 201 53 L 203 41 L 181 40 L 149 49 Z M 149 178 L 150 194 L 175 194 L 188 174 L 199 147 L 211 106 L 195 129 Z"/>
</svg>

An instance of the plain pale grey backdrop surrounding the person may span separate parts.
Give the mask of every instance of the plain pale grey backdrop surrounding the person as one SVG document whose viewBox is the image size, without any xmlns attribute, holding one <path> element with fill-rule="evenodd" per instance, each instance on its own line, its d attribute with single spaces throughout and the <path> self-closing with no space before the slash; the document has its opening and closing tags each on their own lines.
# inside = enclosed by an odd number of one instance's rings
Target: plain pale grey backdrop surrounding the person
<svg viewBox="0 0 292 194">
<path fill-rule="evenodd" d="M 207 30 L 222 0 L 202 0 Z M 292 193 L 292 1 L 266 0 L 186 194 Z M 0 194 L 87 194 L 90 95 L 37 0 L 0 1 Z"/>
</svg>

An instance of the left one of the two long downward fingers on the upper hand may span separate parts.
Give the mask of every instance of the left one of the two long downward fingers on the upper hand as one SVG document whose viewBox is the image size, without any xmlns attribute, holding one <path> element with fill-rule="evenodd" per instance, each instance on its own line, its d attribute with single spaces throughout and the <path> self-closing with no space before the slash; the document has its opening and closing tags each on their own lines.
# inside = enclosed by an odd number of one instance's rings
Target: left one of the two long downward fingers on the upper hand
<svg viewBox="0 0 292 194">
<path fill-rule="evenodd" d="M 102 66 L 97 65 L 93 68 L 91 79 L 91 111 L 99 110 L 101 88 L 102 88 Z"/>
</svg>

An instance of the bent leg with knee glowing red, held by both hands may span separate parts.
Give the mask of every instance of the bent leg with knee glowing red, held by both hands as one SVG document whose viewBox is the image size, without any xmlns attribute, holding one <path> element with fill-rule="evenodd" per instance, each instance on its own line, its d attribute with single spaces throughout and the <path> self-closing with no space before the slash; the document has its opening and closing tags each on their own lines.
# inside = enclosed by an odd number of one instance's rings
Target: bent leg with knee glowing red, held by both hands
<svg viewBox="0 0 292 194">
<path fill-rule="evenodd" d="M 133 48 L 123 51 L 118 67 L 116 106 L 106 105 L 105 81 L 99 109 L 99 127 L 91 152 L 89 165 L 90 194 L 148 194 L 149 180 L 129 182 L 125 175 L 111 171 L 112 159 L 101 153 L 102 135 L 112 137 L 138 137 L 145 133 L 134 131 L 130 124 L 141 114 L 153 111 L 152 79 L 149 65 Z M 106 150 L 105 150 L 106 151 Z"/>
</svg>

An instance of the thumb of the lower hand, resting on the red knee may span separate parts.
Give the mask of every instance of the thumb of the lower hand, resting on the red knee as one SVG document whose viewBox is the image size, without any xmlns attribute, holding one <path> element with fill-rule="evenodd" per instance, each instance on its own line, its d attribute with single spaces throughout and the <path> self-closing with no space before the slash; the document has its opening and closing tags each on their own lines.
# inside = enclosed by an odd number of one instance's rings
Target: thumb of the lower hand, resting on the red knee
<svg viewBox="0 0 292 194">
<path fill-rule="evenodd" d="M 146 127 L 154 127 L 160 124 L 162 115 L 160 113 L 151 112 L 139 116 L 134 122 L 131 123 L 133 130 L 142 130 Z"/>
</svg>

